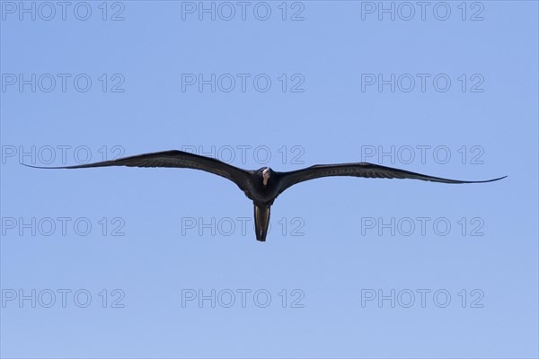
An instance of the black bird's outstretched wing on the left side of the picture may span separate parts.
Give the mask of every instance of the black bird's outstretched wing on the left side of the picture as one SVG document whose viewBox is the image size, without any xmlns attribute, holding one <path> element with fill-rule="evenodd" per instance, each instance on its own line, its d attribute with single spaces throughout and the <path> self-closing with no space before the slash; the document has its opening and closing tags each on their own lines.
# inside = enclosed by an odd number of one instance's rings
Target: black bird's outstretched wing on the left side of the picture
<svg viewBox="0 0 539 359">
<path fill-rule="evenodd" d="M 25 166 L 28 166 L 25 164 Z M 66 167 L 36 167 L 41 169 L 80 169 L 90 167 L 108 167 L 108 166 L 128 166 L 128 167 L 175 167 L 189 168 L 194 170 L 207 171 L 214 173 L 225 179 L 232 180 L 239 188 L 247 188 L 250 171 L 231 166 L 219 160 L 199 156 L 194 153 L 183 151 L 163 151 L 156 153 L 145 153 L 137 156 L 119 158 L 118 160 L 79 164 Z"/>
</svg>

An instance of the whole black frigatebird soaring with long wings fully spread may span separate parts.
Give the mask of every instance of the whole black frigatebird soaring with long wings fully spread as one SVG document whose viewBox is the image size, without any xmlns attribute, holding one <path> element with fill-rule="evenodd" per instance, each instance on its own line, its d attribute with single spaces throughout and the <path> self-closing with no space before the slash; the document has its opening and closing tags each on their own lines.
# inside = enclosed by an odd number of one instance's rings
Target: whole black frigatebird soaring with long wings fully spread
<svg viewBox="0 0 539 359">
<path fill-rule="evenodd" d="M 330 176 L 352 176 L 370 179 L 429 180 L 441 183 L 484 183 L 501 180 L 507 177 L 504 176 L 494 180 L 476 181 L 447 180 L 367 162 L 317 164 L 302 170 L 289 172 L 273 171 L 270 167 L 262 167 L 260 170 L 249 171 L 234 167 L 213 158 L 182 151 L 146 153 L 119 158 L 118 160 L 87 163 L 76 166 L 29 167 L 44 169 L 79 169 L 108 166 L 189 168 L 207 171 L 224 177 L 225 179 L 232 180 L 243 190 L 245 196 L 251 199 L 254 204 L 254 223 L 256 239 L 258 241 L 266 241 L 268 224 L 270 223 L 270 207 L 273 205 L 275 198 L 277 198 L 285 189 L 305 180 L 314 180 Z"/>
</svg>

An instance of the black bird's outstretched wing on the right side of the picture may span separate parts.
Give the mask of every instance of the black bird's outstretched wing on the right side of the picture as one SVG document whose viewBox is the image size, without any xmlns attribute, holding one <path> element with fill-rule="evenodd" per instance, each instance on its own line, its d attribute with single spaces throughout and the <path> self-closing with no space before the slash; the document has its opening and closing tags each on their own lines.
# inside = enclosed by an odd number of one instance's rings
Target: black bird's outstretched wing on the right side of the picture
<svg viewBox="0 0 539 359">
<path fill-rule="evenodd" d="M 314 180 L 331 176 L 364 177 L 367 179 L 429 180 L 431 182 L 441 183 L 483 183 L 501 180 L 507 177 L 500 177 L 499 179 L 494 180 L 448 180 L 440 177 L 427 176 L 416 172 L 399 170 L 392 167 L 385 167 L 367 162 L 317 164 L 303 170 L 282 172 L 280 173 L 280 176 L 282 180 L 282 188 L 280 189 L 279 193 L 291 186 L 294 186 L 296 183 L 303 182 L 305 180 Z"/>
</svg>

